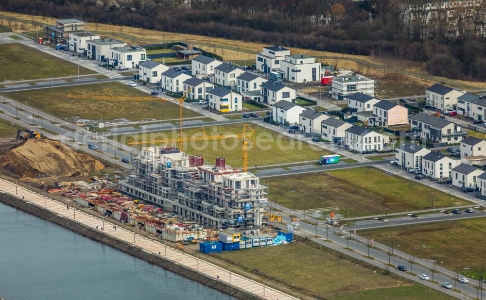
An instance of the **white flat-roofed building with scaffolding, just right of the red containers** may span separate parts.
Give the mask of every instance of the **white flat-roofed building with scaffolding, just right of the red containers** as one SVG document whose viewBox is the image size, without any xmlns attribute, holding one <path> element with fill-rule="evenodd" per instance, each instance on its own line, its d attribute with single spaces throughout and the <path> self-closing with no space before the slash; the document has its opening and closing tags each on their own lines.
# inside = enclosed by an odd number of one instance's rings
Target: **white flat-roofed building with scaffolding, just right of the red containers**
<svg viewBox="0 0 486 300">
<path fill-rule="evenodd" d="M 346 75 L 332 78 L 330 93 L 332 98 L 347 100 L 355 93 L 375 96 L 375 81 L 361 75 Z"/>
</svg>

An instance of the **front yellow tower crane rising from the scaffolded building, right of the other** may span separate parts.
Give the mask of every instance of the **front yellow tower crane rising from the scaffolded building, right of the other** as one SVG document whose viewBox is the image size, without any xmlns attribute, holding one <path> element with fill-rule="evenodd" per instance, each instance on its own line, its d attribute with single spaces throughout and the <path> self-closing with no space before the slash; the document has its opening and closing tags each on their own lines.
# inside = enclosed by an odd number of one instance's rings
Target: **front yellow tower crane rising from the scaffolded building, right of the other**
<svg viewBox="0 0 486 300">
<path fill-rule="evenodd" d="M 243 139 L 243 172 L 248 171 L 248 140 L 253 142 L 253 148 L 255 148 L 255 131 L 248 125 L 243 125 L 243 133 L 239 134 L 229 134 L 229 135 L 207 135 L 204 127 L 191 131 L 193 133 L 202 129 L 203 135 L 202 136 L 193 136 L 193 137 L 186 137 L 182 138 L 181 135 L 177 138 L 169 138 L 163 140 L 151 140 L 151 141 L 141 141 L 141 142 L 131 142 L 128 143 L 129 145 L 139 145 L 139 144 L 151 144 L 151 143 L 173 143 L 173 142 L 180 142 L 182 141 L 189 141 L 189 140 L 220 140 L 226 138 L 241 138 Z M 182 146 L 181 146 L 182 149 Z"/>
</svg>

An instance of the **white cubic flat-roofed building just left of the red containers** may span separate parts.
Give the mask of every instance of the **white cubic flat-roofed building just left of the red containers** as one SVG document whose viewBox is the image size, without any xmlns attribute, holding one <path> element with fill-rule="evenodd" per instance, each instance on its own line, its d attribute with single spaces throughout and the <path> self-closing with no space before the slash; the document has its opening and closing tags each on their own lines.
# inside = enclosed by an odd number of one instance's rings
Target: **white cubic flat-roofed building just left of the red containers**
<svg viewBox="0 0 486 300">
<path fill-rule="evenodd" d="M 321 80 L 321 63 L 305 54 L 290 54 L 280 61 L 283 79 L 291 83 L 305 83 Z"/>
</svg>

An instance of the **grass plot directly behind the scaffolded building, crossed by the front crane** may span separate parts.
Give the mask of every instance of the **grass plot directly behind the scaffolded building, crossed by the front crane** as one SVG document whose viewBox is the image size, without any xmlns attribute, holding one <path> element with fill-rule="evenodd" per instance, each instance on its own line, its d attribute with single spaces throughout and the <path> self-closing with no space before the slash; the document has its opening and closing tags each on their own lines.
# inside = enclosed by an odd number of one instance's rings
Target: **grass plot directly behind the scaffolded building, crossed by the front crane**
<svg viewBox="0 0 486 300">
<path fill-rule="evenodd" d="M 328 150 L 320 149 L 300 140 L 291 139 L 288 136 L 281 135 L 277 132 L 268 130 L 258 125 L 250 124 L 255 131 L 255 149 L 251 141 L 248 142 L 248 168 L 257 166 L 292 163 L 304 160 L 304 151 L 306 159 L 314 158 L 316 161 L 321 155 L 332 154 Z M 201 137 L 202 130 L 191 133 L 194 129 L 184 130 L 186 137 Z M 243 133 L 242 124 L 228 124 L 219 126 L 210 126 L 205 128 L 207 135 L 233 135 Z M 247 130 L 248 132 L 248 130 Z M 134 141 L 157 140 L 166 138 L 176 138 L 178 131 L 163 131 L 156 133 L 139 133 L 136 136 L 118 136 L 121 143 L 129 144 Z M 167 145 L 167 143 L 163 143 Z M 178 144 L 178 143 L 174 143 Z M 154 143 L 150 146 L 162 145 Z M 141 145 L 140 145 L 141 146 Z M 145 146 L 143 146 L 145 147 Z M 226 164 L 232 167 L 242 167 L 243 141 L 241 138 L 229 138 L 221 140 L 190 140 L 184 142 L 184 150 L 191 154 L 203 154 L 208 162 L 214 162 L 216 157 L 225 157 Z"/>
</svg>

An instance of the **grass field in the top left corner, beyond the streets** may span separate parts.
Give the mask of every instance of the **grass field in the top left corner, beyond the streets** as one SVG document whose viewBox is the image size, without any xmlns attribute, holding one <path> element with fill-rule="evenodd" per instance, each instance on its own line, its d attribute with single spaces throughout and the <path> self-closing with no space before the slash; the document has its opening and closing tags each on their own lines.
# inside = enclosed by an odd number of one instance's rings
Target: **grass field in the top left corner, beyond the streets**
<svg viewBox="0 0 486 300">
<path fill-rule="evenodd" d="M 0 44 L 0 82 L 78 75 L 78 65 L 20 43 Z M 79 74 L 95 74 L 79 67 Z"/>
</svg>

